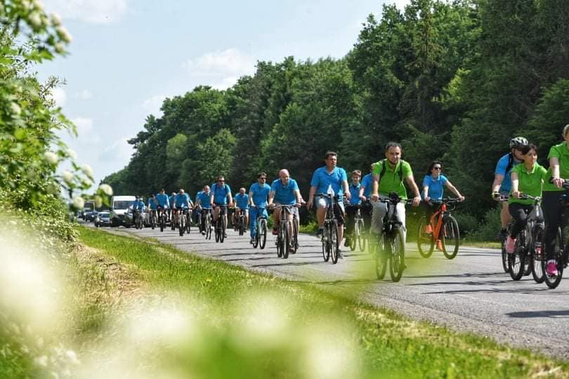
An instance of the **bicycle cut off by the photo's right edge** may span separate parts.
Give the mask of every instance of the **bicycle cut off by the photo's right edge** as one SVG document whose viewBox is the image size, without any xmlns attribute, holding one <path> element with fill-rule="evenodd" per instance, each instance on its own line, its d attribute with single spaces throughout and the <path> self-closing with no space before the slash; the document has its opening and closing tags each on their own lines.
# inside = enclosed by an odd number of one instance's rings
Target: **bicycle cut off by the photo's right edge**
<svg viewBox="0 0 569 379">
<path fill-rule="evenodd" d="M 551 182 L 551 180 L 550 180 Z M 568 264 L 569 255 L 569 241 L 567 227 L 569 225 L 569 180 L 565 179 L 563 182 L 563 189 L 565 189 L 565 194 L 561 196 L 560 206 L 561 206 L 561 226 L 557 228 L 555 244 L 554 244 L 554 260 L 557 267 L 557 275 L 551 276 L 547 274 L 545 267 L 547 265 L 547 259 L 542 260 L 542 270 L 544 274 L 545 284 L 549 288 L 556 288 L 563 277 L 563 270 Z"/>
</svg>

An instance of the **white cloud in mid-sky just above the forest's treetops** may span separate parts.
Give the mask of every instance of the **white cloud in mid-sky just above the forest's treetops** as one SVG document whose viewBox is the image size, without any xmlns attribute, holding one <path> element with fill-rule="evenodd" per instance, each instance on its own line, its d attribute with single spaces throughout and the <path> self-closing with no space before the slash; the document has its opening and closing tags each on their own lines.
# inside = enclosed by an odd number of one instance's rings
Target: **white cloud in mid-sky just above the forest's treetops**
<svg viewBox="0 0 569 379">
<path fill-rule="evenodd" d="M 191 75 L 199 77 L 234 77 L 235 75 L 252 74 L 255 69 L 255 60 L 237 48 L 229 48 L 225 51 L 205 53 L 199 58 L 189 59 L 183 63 L 182 67 L 187 69 Z"/>
</svg>

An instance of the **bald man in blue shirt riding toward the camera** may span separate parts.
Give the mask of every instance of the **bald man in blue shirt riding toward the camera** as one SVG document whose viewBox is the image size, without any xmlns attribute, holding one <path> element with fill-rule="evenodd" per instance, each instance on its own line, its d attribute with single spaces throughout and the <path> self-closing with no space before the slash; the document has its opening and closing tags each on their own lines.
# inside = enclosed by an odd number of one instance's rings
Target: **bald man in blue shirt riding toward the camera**
<svg viewBox="0 0 569 379">
<path fill-rule="evenodd" d="M 269 208 L 279 207 L 281 205 L 294 205 L 292 213 L 289 213 L 289 225 L 292 225 L 292 217 L 296 215 L 299 218 L 299 209 L 302 204 L 299 185 L 296 180 L 290 178 L 289 171 L 283 168 L 279 171 L 279 179 L 273 180 L 270 185 L 269 200 L 267 206 Z M 300 219 L 300 218 L 299 218 Z M 273 212 L 273 234 L 279 234 L 280 212 Z"/>
</svg>

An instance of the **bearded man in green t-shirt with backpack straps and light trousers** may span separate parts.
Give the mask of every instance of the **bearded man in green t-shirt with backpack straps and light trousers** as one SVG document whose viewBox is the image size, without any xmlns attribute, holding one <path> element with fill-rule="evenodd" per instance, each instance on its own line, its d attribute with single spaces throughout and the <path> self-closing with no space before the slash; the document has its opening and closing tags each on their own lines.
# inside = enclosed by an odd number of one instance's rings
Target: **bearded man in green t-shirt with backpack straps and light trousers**
<svg viewBox="0 0 569 379">
<path fill-rule="evenodd" d="M 413 171 L 410 164 L 401 159 L 401 145 L 397 142 L 388 142 L 385 147 L 386 159 L 373 164 L 372 175 L 372 201 L 374 201 L 374 211 L 372 214 L 372 233 L 379 234 L 384 228 L 384 216 L 387 213 L 387 204 L 379 201 L 379 198 L 387 198 L 391 192 L 395 192 L 401 199 L 407 199 L 407 190 L 403 180 L 411 187 L 414 198 L 413 206 L 418 206 L 421 201 L 419 187 L 413 178 Z M 379 194 L 378 194 L 379 192 Z M 398 220 L 403 225 L 403 235 L 406 234 L 405 228 L 405 203 L 397 204 Z"/>
</svg>

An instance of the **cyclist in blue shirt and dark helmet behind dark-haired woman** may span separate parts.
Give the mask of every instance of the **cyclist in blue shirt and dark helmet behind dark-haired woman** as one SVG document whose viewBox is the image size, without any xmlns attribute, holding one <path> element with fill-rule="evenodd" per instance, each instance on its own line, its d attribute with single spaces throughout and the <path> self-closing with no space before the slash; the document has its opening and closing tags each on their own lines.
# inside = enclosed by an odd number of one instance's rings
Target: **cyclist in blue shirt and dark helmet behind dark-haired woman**
<svg viewBox="0 0 569 379">
<path fill-rule="evenodd" d="M 496 201 L 500 196 L 508 196 L 511 191 L 511 169 L 522 161 L 520 147 L 528 145 L 528 140 L 523 137 L 512 138 L 509 142 L 510 152 L 502 156 L 496 164 L 494 173 L 494 182 L 492 182 L 492 198 Z M 511 220 L 508 205 L 502 203 L 502 213 L 500 213 L 500 221 L 502 222 L 502 230 L 500 230 L 500 239 L 506 238 L 506 228 Z"/>
</svg>

